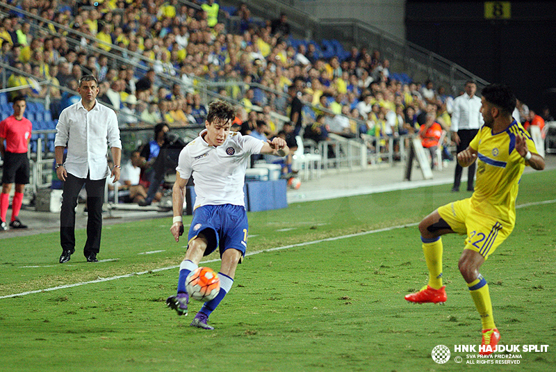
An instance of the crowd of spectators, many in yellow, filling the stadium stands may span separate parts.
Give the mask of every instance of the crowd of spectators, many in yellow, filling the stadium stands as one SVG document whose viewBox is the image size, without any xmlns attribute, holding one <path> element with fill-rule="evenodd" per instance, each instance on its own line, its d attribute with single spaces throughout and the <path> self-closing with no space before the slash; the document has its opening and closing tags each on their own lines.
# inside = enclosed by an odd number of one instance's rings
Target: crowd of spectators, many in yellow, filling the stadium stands
<svg viewBox="0 0 556 372">
<path fill-rule="evenodd" d="M 205 79 L 242 82 L 222 85 L 218 92 L 243 105 L 237 120 L 247 123 L 242 125 L 245 133 L 256 129 L 256 120 L 266 122 L 266 136 L 277 133 L 270 112 L 288 115 L 293 97 L 314 105 L 302 104 L 302 124 L 306 137 L 318 141 L 327 140 L 329 133 L 387 138 L 418 132 L 428 113 L 436 116 L 444 131 L 450 128 L 453 99 L 443 87 L 435 87 L 434 81 L 420 84 L 407 75 L 391 74 L 389 60 L 366 47 L 347 52 L 337 43 L 334 50 L 340 53 L 331 55 L 316 42 L 292 38 L 286 15 L 261 24 L 251 17 L 245 3 L 225 13 L 240 20 L 238 34 L 227 32 L 217 22 L 218 4 L 213 0 L 199 2 L 202 9 L 177 0 L 99 0 L 94 2 L 97 6 L 93 1 L 11 3 L 95 40 L 76 38 L 22 13 L 12 12 L 0 22 L 1 59 L 33 76 L 13 73 L 8 87 L 29 84 L 24 94 L 49 94 L 54 118 L 79 99 L 59 87 L 75 90 L 83 74 L 95 74 L 98 99 L 118 111 L 121 127 L 159 122 L 170 127 L 202 125 L 206 107 L 196 87 L 199 79 Z M 38 84 L 44 79 L 51 81 L 50 88 Z M 270 93 L 260 87 L 269 88 Z M 293 95 L 287 95 L 288 87 Z M 521 107 L 525 122 L 529 114 L 524 104 Z M 250 111 L 258 112 L 255 124 L 249 124 Z M 295 134 L 301 129 L 297 126 Z M 375 145 L 376 141 L 370 143 L 370 147 Z"/>
</svg>

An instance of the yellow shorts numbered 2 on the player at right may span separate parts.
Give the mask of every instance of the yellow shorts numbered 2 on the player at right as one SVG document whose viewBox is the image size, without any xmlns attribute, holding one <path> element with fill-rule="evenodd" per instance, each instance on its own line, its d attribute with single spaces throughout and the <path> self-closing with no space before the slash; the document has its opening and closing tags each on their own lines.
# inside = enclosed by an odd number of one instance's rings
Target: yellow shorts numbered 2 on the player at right
<svg viewBox="0 0 556 372">
<path fill-rule="evenodd" d="M 454 232 L 467 235 L 464 249 L 479 252 L 484 259 L 487 259 L 514 229 L 508 223 L 473 209 L 471 198 L 445 204 L 439 207 L 438 211 Z"/>
</svg>

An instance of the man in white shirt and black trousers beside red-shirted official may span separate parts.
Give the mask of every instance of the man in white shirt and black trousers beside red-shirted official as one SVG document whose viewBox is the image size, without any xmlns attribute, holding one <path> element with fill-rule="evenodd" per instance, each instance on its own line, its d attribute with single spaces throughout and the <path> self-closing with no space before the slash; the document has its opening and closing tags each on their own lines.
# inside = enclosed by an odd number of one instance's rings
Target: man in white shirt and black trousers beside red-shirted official
<svg viewBox="0 0 556 372">
<path fill-rule="evenodd" d="M 115 112 L 99 102 L 97 79 L 85 75 L 77 88 L 81 100 L 60 113 L 56 125 L 54 152 L 56 176 L 64 181 L 62 209 L 60 211 L 60 264 L 70 261 L 75 251 L 75 207 L 77 195 L 85 184 L 87 191 L 87 241 L 83 254 L 88 262 L 97 262 L 102 230 L 102 203 L 106 177 L 120 179 L 122 141 Z M 114 167 L 108 168 L 108 145 L 111 147 Z M 63 163 L 64 149 L 67 158 Z"/>
</svg>

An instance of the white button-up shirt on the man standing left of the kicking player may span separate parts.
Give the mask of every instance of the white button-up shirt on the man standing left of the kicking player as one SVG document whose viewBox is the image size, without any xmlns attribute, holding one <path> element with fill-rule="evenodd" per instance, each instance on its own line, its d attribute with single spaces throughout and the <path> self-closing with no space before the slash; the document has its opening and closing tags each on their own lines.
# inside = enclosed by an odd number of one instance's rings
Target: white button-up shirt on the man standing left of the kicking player
<svg viewBox="0 0 556 372">
<path fill-rule="evenodd" d="M 67 145 L 64 167 L 75 177 L 103 179 L 110 175 L 108 145 L 122 148 L 116 113 L 95 100 L 91 111 L 80 99 L 60 113 L 54 146 Z"/>
</svg>

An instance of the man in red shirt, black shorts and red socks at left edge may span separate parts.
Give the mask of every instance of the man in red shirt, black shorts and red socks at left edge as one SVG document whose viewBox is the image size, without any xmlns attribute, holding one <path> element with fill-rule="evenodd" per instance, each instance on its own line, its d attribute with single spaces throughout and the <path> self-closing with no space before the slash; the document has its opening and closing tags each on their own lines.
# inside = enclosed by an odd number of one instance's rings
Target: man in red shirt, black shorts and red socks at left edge
<svg viewBox="0 0 556 372">
<path fill-rule="evenodd" d="M 23 117 L 26 108 L 25 97 L 18 96 L 13 100 L 13 115 L 0 122 L 0 155 L 3 158 L 2 193 L 0 194 L 0 231 L 8 229 L 6 214 L 8 213 L 10 191 L 15 182 L 15 194 L 12 201 L 12 229 L 26 229 L 27 226 L 17 218 L 22 208 L 23 191 L 29 183 L 29 159 L 27 147 L 31 140 L 33 125 Z M 6 147 L 4 147 L 6 140 Z"/>
</svg>

